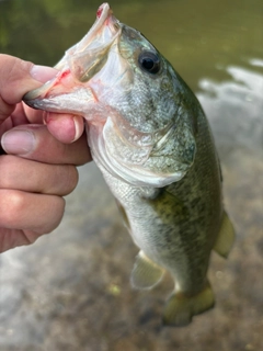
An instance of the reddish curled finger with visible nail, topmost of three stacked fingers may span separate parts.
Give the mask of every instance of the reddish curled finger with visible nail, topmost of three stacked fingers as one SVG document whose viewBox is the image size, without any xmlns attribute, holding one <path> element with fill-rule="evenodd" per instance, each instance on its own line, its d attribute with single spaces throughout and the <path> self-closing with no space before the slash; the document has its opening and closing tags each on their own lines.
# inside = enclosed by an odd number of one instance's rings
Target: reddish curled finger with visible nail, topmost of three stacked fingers
<svg viewBox="0 0 263 351">
<path fill-rule="evenodd" d="M 45 163 L 80 166 L 91 160 L 85 134 L 72 144 L 57 140 L 45 125 L 23 125 L 3 134 L 2 148 L 7 154 Z"/>
</svg>

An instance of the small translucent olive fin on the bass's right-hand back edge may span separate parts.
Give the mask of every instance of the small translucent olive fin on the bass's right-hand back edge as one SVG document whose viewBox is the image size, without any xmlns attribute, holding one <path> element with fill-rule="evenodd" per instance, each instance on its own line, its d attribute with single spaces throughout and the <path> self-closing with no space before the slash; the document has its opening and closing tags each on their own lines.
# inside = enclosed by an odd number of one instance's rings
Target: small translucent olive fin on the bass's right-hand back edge
<svg viewBox="0 0 263 351">
<path fill-rule="evenodd" d="M 235 229 L 231 220 L 229 219 L 227 213 L 224 211 L 221 228 L 217 237 L 217 241 L 214 246 L 214 250 L 222 256 L 228 257 L 228 253 L 235 241 Z"/>
</svg>

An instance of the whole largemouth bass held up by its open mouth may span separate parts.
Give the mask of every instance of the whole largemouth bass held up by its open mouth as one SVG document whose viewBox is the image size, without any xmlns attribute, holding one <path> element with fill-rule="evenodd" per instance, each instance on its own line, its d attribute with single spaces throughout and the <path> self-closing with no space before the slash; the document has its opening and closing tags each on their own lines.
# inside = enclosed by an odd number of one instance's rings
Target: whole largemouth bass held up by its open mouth
<svg viewBox="0 0 263 351">
<path fill-rule="evenodd" d="M 165 325 L 187 325 L 214 306 L 211 250 L 227 257 L 233 227 L 222 205 L 220 166 L 204 112 L 170 63 L 107 3 L 55 66 L 59 73 L 24 101 L 85 118 L 92 157 L 140 248 L 136 288 L 165 271 L 174 291 Z"/>
</svg>

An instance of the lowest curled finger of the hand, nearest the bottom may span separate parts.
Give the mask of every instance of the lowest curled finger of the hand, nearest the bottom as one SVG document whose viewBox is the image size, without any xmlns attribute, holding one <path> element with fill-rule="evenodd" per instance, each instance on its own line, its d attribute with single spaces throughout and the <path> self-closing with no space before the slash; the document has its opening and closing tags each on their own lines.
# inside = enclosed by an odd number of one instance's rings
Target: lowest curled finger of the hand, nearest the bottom
<svg viewBox="0 0 263 351">
<path fill-rule="evenodd" d="M 0 227 L 50 233 L 60 223 L 65 200 L 19 190 L 0 190 Z"/>
</svg>

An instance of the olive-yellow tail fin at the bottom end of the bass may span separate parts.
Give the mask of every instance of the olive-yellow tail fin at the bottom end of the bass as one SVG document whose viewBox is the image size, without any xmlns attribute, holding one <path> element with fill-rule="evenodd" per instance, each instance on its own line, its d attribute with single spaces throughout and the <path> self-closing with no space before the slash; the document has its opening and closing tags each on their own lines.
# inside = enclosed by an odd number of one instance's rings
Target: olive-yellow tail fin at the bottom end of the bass
<svg viewBox="0 0 263 351">
<path fill-rule="evenodd" d="M 167 303 L 163 324 L 165 326 L 184 327 L 192 321 L 193 316 L 210 309 L 214 305 L 214 293 L 208 282 L 203 291 L 194 296 L 175 292 Z"/>
</svg>

